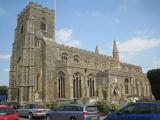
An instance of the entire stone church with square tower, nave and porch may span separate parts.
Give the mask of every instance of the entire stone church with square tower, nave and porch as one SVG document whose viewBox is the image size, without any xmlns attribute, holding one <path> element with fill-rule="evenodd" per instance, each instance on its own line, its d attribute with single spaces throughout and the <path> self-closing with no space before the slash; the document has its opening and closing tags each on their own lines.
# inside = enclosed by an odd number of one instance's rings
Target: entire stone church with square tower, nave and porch
<svg viewBox="0 0 160 120">
<path fill-rule="evenodd" d="M 17 18 L 12 47 L 9 101 L 21 104 L 55 100 L 151 97 L 140 66 L 119 61 L 116 41 L 112 56 L 58 44 L 55 11 L 30 2 Z"/>
</svg>

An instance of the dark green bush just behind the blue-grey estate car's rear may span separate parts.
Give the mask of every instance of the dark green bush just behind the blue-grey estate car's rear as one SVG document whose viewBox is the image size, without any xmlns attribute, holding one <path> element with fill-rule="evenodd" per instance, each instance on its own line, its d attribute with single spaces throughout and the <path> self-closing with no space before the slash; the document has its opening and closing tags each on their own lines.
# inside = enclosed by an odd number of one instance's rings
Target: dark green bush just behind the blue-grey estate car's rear
<svg viewBox="0 0 160 120">
<path fill-rule="evenodd" d="M 100 113 L 108 113 L 109 112 L 109 106 L 106 101 L 98 101 L 96 103 L 97 108 Z"/>
</svg>

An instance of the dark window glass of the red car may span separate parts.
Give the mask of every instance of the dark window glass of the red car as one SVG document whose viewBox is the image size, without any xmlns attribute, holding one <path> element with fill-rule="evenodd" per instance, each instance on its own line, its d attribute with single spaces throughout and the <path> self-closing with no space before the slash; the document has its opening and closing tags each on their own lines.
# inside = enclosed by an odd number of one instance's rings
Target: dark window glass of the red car
<svg viewBox="0 0 160 120">
<path fill-rule="evenodd" d="M 0 108 L 0 116 L 15 114 L 16 111 L 13 108 Z"/>
</svg>

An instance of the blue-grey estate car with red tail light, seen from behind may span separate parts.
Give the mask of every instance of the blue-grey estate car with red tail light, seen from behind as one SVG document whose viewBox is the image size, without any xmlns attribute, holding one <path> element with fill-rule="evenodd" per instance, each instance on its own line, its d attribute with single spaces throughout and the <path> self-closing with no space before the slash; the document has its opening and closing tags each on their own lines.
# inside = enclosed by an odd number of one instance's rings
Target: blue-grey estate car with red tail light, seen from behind
<svg viewBox="0 0 160 120">
<path fill-rule="evenodd" d="M 94 105 L 66 104 L 49 111 L 46 120 L 99 120 L 99 114 Z"/>
</svg>

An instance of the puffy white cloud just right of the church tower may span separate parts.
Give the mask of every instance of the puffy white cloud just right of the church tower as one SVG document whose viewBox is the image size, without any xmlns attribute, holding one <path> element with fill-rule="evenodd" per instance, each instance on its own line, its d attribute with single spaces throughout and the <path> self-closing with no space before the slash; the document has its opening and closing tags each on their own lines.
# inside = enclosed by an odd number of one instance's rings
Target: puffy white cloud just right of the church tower
<svg viewBox="0 0 160 120">
<path fill-rule="evenodd" d="M 77 47 L 80 45 L 80 41 L 73 40 L 72 30 L 68 28 L 62 28 L 56 32 L 56 41 L 60 44 L 65 44 L 72 47 Z"/>
</svg>

